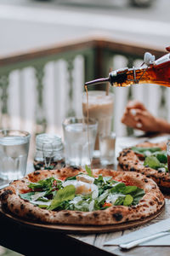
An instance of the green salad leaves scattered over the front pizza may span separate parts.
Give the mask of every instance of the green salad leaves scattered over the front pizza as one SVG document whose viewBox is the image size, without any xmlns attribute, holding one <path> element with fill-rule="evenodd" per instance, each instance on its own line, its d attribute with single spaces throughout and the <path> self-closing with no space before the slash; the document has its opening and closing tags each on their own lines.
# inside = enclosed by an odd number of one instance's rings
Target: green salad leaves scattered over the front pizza
<svg viewBox="0 0 170 256">
<path fill-rule="evenodd" d="M 89 174 L 90 176 L 93 175 L 90 168 L 88 168 L 88 175 Z M 69 179 L 75 180 L 76 176 L 69 177 Z M 118 182 L 109 176 L 103 177 L 101 174 L 99 177 L 94 178 L 94 184 L 99 190 L 99 195 L 95 199 L 93 199 L 92 194 L 76 195 L 74 185 L 71 184 L 63 188 L 61 181 L 59 181 L 59 190 L 56 190 L 54 186 L 56 186 L 57 182 L 58 180 L 54 178 L 47 178 L 37 183 L 30 183 L 29 187 L 31 187 L 33 191 L 21 194 L 20 197 L 31 201 L 32 204 L 40 208 L 46 208 L 48 210 L 89 212 L 105 210 L 105 201 L 111 201 L 115 206 L 129 207 L 131 205 L 137 205 L 144 196 L 143 189 L 139 189 L 137 186 L 126 186 L 125 183 Z"/>
</svg>

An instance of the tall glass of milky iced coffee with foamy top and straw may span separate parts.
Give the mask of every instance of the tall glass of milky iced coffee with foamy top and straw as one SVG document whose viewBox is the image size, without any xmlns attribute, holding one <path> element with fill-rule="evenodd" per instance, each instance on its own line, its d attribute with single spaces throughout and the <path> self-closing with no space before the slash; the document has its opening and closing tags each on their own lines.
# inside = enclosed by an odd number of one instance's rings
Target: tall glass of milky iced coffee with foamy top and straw
<svg viewBox="0 0 170 256">
<path fill-rule="evenodd" d="M 86 92 L 82 94 L 82 113 L 84 117 L 98 120 L 98 134 L 95 150 L 99 150 L 99 136 L 111 134 L 113 119 L 114 95 L 105 95 L 105 90 L 88 91 L 88 104 Z"/>
</svg>

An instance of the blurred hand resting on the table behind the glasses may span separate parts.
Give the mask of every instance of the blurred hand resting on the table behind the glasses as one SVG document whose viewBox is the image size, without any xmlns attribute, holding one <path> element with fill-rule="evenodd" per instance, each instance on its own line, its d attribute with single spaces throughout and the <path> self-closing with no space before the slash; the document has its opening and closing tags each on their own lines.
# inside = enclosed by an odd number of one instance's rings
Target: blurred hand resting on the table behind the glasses
<svg viewBox="0 0 170 256">
<path fill-rule="evenodd" d="M 159 119 L 156 119 L 141 102 L 128 102 L 122 123 L 141 131 L 160 131 Z"/>
</svg>

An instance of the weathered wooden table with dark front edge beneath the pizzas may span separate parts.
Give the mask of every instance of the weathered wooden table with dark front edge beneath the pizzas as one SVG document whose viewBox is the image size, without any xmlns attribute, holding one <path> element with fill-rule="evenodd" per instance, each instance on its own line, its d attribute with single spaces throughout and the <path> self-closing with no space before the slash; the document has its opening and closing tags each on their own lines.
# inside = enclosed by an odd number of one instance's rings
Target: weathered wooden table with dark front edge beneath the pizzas
<svg viewBox="0 0 170 256">
<path fill-rule="evenodd" d="M 157 137 L 151 139 L 153 142 L 164 140 L 165 137 Z M 118 138 L 116 141 L 116 155 L 130 145 L 134 145 L 145 138 Z M 97 161 L 96 161 L 97 162 Z M 96 163 L 94 161 L 94 163 Z M 31 171 L 29 166 L 28 172 Z M 0 185 L 2 181 L 0 181 Z M 25 224 L 18 224 L 0 214 L 0 244 L 3 247 L 8 247 L 18 253 L 24 255 L 47 255 L 54 252 L 61 252 L 63 255 L 74 253 L 74 255 L 148 255 L 154 253 L 155 256 L 169 255 L 169 247 L 135 247 L 127 252 L 122 252 L 116 246 L 104 247 L 105 241 L 109 241 L 119 236 L 127 235 L 129 232 L 139 230 L 144 226 L 154 224 L 157 221 L 169 218 L 170 216 L 170 196 L 166 195 L 166 206 L 159 217 L 154 218 L 149 223 L 133 228 L 132 230 L 121 230 L 118 232 L 104 233 L 104 234 L 90 234 L 90 235 L 67 235 L 59 233 L 54 230 L 42 230 L 26 226 Z"/>
</svg>

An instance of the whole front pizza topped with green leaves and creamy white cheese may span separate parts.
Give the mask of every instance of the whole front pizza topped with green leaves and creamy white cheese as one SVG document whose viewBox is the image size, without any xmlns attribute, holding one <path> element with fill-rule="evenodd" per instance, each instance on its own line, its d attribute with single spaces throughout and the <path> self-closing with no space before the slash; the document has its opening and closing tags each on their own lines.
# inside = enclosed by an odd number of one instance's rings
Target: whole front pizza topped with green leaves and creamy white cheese
<svg viewBox="0 0 170 256">
<path fill-rule="evenodd" d="M 46 224 L 105 225 L 159 212 L 164 197 L 137 172 L 65 167 L 31 172 L 0 191 L 5 211 Z"/>
</svg>

